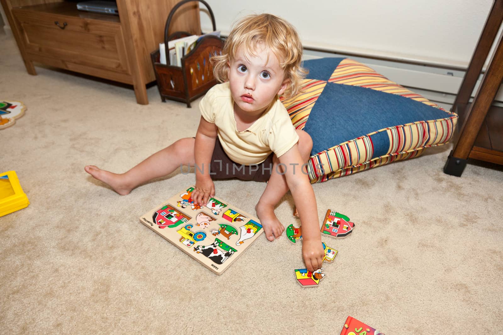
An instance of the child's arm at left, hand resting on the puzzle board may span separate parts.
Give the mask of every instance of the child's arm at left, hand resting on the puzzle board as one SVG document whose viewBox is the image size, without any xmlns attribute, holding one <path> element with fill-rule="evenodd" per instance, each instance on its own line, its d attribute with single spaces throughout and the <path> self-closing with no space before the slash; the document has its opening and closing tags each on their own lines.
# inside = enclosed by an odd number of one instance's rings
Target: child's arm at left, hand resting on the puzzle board
<svg viewBox="0 0 503 335">
<path fill-rule="evenodd" d="M 217 126 L 201 117 L 194 144 L 196 188 L 192 191 L 192 200 L 202 206 L 206 206 L 208 199 L 215 196 L 215 184 L 210 177 L 210 163 L 216 137 Z"/>
</svg>

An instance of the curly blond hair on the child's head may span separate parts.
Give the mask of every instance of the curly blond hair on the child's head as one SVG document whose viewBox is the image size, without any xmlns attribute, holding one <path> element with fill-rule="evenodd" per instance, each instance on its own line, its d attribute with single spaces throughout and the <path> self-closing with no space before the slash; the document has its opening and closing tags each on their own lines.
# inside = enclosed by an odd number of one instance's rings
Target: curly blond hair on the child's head
<svg viewBox="0 0 503 335">
<path fill-rule="evenodd" d="M 257 44 L 264 44 L 266 51 L 272 51 L 285 71 L 289 83 L 283 96 L 287 99 L 296 95 L 307 71 L 302 67 L 302 43 L 295 28 L 287 21 L 271 14 L 249 15 L 232 28 L 221 55 L 211 57 L 213 75 L 224 82 L 229 77 L 230 63 L 239 47 L 244 54 L 257 55 Z"/>
</svg>

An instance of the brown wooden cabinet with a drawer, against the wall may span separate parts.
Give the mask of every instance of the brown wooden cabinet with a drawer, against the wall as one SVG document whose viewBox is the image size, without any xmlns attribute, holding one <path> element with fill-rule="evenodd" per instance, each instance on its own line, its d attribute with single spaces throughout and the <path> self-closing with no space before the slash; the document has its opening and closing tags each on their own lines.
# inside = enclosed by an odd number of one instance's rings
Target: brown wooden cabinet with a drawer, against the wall
<svg viewBox="0 0 503 335">
<path fill-rule="evenodd" d="M 76 2 L 0 0 L 28 73 L 34 62 L 131 84 L 147 104 L 145 85 L 155 80 L 150 53 L 164 39 L 177 0 L 117 0 L 119 16 L 83 12 Z M 200 34 L 198 2 L 180 8 L 170 32 Z"/>
</svg>

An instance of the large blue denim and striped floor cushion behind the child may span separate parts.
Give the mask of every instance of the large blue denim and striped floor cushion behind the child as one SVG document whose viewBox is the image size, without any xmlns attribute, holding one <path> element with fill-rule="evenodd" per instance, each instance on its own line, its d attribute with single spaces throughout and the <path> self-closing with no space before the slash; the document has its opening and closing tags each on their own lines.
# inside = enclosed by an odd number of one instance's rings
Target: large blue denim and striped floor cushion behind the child
<svg viewBox="0 0 503 335">
<path fill-rule="evenodd" d="M 282 102 L 313 139 L 311 182 L 421 155 L 445 144 L 458 116 L 349 58 L 304 62 L 303 91 Z"/>
</svg>

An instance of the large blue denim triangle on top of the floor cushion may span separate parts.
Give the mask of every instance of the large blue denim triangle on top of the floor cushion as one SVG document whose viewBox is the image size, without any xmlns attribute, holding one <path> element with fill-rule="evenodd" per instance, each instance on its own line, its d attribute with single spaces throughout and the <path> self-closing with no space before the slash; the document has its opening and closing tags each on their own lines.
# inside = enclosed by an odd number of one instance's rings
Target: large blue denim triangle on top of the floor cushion
<svg viewBox="0 0 503 335">
<path fill-rule="evenodd" d="M 328 82 L 309 114 L 304 131 L 311 135 L 311 155 L 315 155 L 387 127 L 450 116 L 441 109 L 400 95 Z"/>
</svg>

